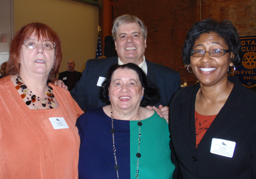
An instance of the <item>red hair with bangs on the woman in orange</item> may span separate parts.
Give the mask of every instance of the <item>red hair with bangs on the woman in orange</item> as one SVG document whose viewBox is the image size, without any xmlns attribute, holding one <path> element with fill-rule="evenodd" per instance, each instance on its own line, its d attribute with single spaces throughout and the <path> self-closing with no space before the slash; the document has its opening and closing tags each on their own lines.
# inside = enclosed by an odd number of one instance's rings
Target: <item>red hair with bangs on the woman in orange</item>
<svg viewBox="0 0 256 179">
<path fill-rule="evenodd" d="M 29 39 L 32 33 L 37 35 L 40 39 L 49 39 L 56 44 L 55 46 L 55 64 L 48 76 L 48 80 L 51 82 L 55 81 L 56 75 L 59 73 L 59 67 L 62 60 L 62 53 L 60 47 L 60 38 L 58 34 L 50 28 L 47 24 L 40 22 L 33 22 L 22 29 L 20 29 L 13 37 L 10 43 L 10 58 L 7 63 L 6 71 L 7 74 L 19 73 L 19 53 L 20 47 L 23 45 L 26 39 Z"/>
</svg>

